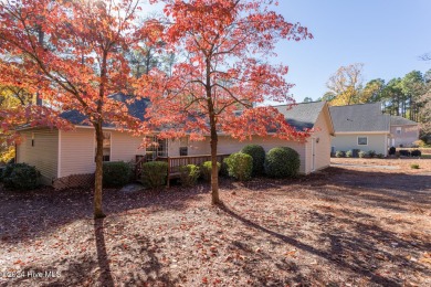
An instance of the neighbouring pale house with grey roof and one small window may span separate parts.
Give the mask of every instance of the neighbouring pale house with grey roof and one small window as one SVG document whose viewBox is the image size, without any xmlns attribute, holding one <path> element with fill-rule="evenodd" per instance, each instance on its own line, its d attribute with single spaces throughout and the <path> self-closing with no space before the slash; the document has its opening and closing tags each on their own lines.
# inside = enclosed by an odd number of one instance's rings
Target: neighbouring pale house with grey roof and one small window
<svg viewBox="0 0 431 287">
<path fill-rule="evenodd" d="M 390 116 L 381 113 L 380 103 L 335 106 L 329 110 L 335 129 L 332 152 L 375 150 L 387 156 Z"/>
</svg>

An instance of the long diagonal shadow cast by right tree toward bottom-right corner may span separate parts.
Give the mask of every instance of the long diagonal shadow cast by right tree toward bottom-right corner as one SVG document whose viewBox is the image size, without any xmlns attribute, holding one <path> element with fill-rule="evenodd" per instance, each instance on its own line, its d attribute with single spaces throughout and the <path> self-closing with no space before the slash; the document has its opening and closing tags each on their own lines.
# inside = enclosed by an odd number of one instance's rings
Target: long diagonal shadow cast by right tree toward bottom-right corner
<svg viewBox="0 0 431 287">
<path fill-rule="evenodd" d="M 329 262 L 336 269 L 344 269 L 350 274 L 366 277 L 371 283 L 383 286 L 402 285 L 398 278 L 382 277 L 380 274 L 375 272 L 369 264 L 370 258 L 376 259 L 374 258 L 377 251 L 375 244 L 378 241 L 385 242 L 389 246 L 391 242 L 397 242 L 399 247 L 407 247 L 410 245 L 411 242 L 399 238 L 395 233 L 388 232 L 375 225 L 368 225 L 348 219 L 337 219 L 333 215 L 322 215 L 319 213 L 315 213 L 313 220 L 319 221 L 320 224 L 326 224 L 327 226 L 334 227 L 329 227 L 327 232 L 324 232 L 319 235 L 322 237 L 322 242 L 328 242 L 327 245 L 312 246 L 304 241 L 295 238 L 296 236 L 287 236 L 280 232 L 282 230 L 287 231 L 287 226 L 281 226 L 277 228 L 278 231 L 274 231 L 244 217 L 242 214 L 233 211 L 227 205 L 221 206 L 221 210 L 251 228 L 269 234 L 270 236 L 275 237 L 283 243 L 290 244 L 293 247 L 308 253 L 309 255 L 315 255 L 324 261 Z M 335 226 L 339 225 L 337 225 L 336 222 L 351 224 L 354 228 L 349 231 L 337 230 Z M 431 245 L 422 244 L 417 245 L 416 247 L 427 251 L 429 247 L 431 247 Z M 381 254 L 381 256 L 383 256 L 387 262 L 403 265 L 404 268 L 411 273 L 420 272 L 430 275 L 425 266 L 409 262 L 396 253 L 379 251 L 379 254 Z M 255 269 L 250 269 L 249 273 L 250 276 L 256 276 L 259 274 L 259 272 Z M 296 279 L 301 281 L 301 276 Z M 295 281 L 297 281 L 296 279 Z M 264 281 L 264 278 L 257 278 L 257 280 Z"/>
</svg>

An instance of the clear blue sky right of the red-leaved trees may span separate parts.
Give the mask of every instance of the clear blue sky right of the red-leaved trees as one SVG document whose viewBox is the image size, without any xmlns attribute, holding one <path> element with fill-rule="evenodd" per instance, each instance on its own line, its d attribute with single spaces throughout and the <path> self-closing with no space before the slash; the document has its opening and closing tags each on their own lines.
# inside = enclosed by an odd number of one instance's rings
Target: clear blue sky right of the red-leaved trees
<svg viewBox="0 0 431 287">
<path fill-rule="evenodd" d="M 291 92 L 297 102 L 320 97 L 341 65 L 364 63 L 365 83 L 431 68 L 431 61 L 419 60 L 431 52 L 430 0 L 281 0 L 276 11 L 314 35 L 276 50 L 275 61 L 290 66 L 287 81 L 296 85 Z"/>
</svg>

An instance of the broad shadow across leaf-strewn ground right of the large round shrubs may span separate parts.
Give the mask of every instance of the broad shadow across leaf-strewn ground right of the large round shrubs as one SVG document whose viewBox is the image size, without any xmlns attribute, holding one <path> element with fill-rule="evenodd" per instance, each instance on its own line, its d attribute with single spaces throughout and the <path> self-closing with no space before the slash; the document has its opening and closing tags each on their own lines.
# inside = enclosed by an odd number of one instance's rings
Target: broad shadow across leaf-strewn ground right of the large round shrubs
<svg viewBox="0 0 431 287">
<path fill-rule="evenodd" d="M 254 179 L 243 187 L 253 192 L 272 192 L 274 195 L 286 191 L 293 196 L 294 191 L 299 191 L 297 196 L 301 196 L 301 190 L 308 189 L 328 200 L 360 200 L 376 208 L 398 211 L 406 211 L 404 205 L 409 204 L 431 209 L 430 177 L 421 174 L 327 168 L 296 179 Z"/>
</svg>

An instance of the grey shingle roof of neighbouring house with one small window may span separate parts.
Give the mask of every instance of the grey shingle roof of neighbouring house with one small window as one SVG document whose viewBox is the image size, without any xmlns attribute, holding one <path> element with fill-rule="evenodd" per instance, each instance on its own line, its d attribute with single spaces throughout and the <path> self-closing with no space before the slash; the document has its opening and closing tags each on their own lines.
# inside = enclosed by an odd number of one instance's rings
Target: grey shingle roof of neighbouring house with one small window
<svg viewBox="0 0 431 287">
<path fill-rule="evenodd" d="M 390 117 L 381 103 L 329 107 L 335 132 L 388 131 Z"/>
</svg>

